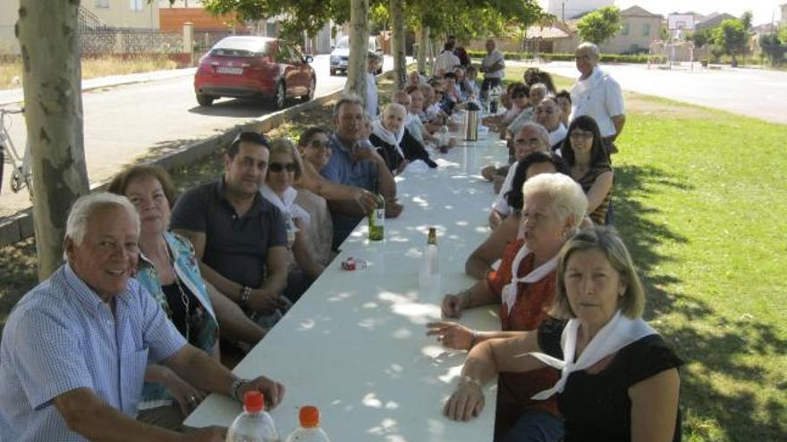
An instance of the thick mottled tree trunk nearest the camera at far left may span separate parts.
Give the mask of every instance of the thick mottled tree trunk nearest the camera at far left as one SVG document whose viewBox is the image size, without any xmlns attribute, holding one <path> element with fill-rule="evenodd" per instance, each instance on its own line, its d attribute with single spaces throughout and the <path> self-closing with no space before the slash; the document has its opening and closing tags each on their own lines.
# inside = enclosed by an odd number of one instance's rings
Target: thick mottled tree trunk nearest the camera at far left
<svg viewBox="0 0 787 442">
<path fill-rule="evenodd" d="M 78 0 L 21 0 L 19 7 L 16 34 L 24 68 L 39 279 L 63 263 L 69 208 L 89 191 L 82 137 L 79 7 Z"/>
</svg>

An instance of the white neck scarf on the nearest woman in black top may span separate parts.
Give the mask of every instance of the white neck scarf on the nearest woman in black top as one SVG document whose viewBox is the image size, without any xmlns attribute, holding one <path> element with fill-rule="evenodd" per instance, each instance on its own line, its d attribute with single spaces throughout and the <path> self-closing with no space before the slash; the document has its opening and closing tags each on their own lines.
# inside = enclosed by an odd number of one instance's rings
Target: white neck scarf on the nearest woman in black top
<svg viewBox="0 0 787 442">
<path fill-rule="evenodd" d="M 582 371 L 601 361 L 606 356 L 614 354 L 622 347 L 638 341 L 646 336 L 656 335 L 656 330 L 651 329 L 647 322 L 642 318 L 630 320 L 624 316 L 620 310 L 615 313 L 612 320 L 598 330 L 585 350 L 580 354 L 580 358 L 574 362 L 574 355 L 577 351 L 577 334 L 580 330 L 580 320 L 572 319 L 563 329 L 563 336 L 560 339 L 563 348 L 563 361 L 543 353 L 527 353 L 542 363 L 551 365 L 561 371 L 560 379 L 554 387 L 546 389 L 533 396 L 533 399 L 544 400 L 555 393 L 561 393 L 565 388 L 566 381 L 572 371 Z M 522 354 L 524 355 L 524 354 Z"/>
</svg>

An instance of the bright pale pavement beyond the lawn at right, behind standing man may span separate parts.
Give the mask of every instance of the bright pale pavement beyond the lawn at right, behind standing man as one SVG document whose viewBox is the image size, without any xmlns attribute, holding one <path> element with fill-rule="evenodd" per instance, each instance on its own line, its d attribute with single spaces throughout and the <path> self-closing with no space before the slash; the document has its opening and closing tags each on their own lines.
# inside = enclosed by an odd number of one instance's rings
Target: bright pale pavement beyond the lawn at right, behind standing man
<svg viewBox="0 0 787 442">
<path fill-rule="evenodd" d="M 541 64 L 539 68 L 565 77 L 578 77 L 572 62 Z M 787 72 L 756 69 L 673 71 L 647 69 L 642 64 L 603 65 L 625 90 L 700 104 L 766 121 L 787 124 Z"/>
</svg>

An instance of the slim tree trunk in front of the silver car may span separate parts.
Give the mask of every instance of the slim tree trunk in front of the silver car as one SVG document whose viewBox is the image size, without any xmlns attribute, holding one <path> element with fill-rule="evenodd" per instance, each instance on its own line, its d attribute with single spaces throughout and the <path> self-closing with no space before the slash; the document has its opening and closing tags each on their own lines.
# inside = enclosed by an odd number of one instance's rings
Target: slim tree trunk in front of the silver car
<svg viewBox="0 0 787 442">
<path fill-rule="evenodd" d="M 350 7 L 350 62 L 344 91 L 360 96 L 366 103 L 368 0 L 351 0 Z"/>
</svg>

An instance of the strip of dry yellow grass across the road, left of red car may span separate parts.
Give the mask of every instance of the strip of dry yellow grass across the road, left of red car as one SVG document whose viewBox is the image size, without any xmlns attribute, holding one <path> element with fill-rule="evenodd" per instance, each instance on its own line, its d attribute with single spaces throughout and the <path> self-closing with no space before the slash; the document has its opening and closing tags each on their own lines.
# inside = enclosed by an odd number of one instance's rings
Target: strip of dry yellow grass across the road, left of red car
<svg viewBox="0 0 787 442">
<path fill-rule="evenodd" d="M 139 55 L 133 58 L 100 57 L 82 59 L 82 79 L 95 79 L 110 75 L 123 75 L 138 72 L 165 71 L 175 69 L 177 63 L 165 55 Z M 13 78 L 21 79 L 21 61 L 0 62 L 0 90 L 20 88 Z"/>
</svg>

